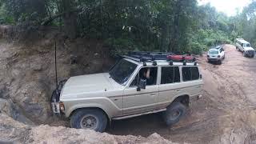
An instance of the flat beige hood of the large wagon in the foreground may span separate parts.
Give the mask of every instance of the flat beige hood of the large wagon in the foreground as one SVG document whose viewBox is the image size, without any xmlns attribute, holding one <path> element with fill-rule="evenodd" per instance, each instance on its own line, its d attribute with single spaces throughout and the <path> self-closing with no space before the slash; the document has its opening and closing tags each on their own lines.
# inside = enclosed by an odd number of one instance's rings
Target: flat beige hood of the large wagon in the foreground
<svg viewBox="0 0 256 144">
<path fill-rule="evenodd" d="M 62 98 L 74 98 L 80 94 L 104 92 L 114 88 L 108 73 L 71 77 L 62 89 Z"/>
</svg>

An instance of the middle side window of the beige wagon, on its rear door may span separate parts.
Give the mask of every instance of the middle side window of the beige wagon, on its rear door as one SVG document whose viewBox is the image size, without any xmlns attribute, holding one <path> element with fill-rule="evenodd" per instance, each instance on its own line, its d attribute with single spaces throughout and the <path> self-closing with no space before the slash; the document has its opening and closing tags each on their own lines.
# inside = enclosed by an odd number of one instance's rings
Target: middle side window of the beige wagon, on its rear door
<svg viewBox="0 0 256 144">
<path fill-rule="evenodd" d="M 178 66 L 162 67 L 161 84 L 180 82 Z"/>
</svg>

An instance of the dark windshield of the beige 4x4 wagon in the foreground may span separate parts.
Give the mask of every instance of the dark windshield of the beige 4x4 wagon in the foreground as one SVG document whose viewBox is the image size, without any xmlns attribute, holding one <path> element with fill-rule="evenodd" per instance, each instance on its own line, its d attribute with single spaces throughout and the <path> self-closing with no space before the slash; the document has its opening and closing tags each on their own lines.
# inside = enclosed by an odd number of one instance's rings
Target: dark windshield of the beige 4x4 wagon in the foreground
<svg viewBox="0 0 256 144">
<path fill-rule="evenodd" d="M 122 59 L 110 70 L 110 77 L 113 78 L 115 82 L 125 85 L 125 82 L 127 82 L 130 75 L 133 74 L 136 67 L 137 65 L 133 62 Z"/>
</svg>

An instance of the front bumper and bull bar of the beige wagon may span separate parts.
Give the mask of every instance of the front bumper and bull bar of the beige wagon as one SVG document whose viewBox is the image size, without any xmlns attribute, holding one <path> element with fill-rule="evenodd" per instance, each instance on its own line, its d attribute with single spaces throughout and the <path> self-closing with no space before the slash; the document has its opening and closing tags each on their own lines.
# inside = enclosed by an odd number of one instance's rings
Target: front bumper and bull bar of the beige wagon
<svg viewBox="0 0 256 144">
<path fill-rule="evenodd" d="M 61 114 L 59 102 L 60 102 L 61 91 L 65 82 L 66 80 L 59 82 L 57 89 L 54 90 L 53 94 L 51 95 L 51 98 L 50 98 L 51 109 L 53 110 L 54 114 Z"/>
</svg>

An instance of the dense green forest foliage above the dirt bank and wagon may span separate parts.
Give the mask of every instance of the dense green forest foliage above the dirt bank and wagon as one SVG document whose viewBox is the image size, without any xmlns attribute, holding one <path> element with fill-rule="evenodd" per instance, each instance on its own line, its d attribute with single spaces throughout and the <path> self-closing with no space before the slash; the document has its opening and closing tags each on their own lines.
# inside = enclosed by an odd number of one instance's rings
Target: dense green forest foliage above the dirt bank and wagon
<svg viewBox="0 0 256 144">
<path fill-rule="evenodd" d="M 196 0 L 0 0 L 0 22 L 51 25 L 70 38 L 100 38 L 127 50 L 201 54 L 242 37 L 256 45 L 256 2 L 227 17 Z"/>
</svg>

